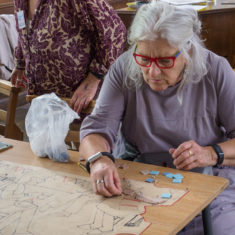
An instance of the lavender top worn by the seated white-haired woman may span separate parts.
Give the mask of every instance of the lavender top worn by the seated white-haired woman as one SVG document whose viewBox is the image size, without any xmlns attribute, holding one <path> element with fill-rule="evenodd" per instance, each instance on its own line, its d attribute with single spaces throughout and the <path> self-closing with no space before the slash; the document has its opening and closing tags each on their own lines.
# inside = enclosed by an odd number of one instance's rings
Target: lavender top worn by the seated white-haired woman
<svg viewBox="0 0 235 235">
<path fill-rule="evenodd" d="M 113 148 L 120 122 L 123 136 L 140 153 L 168 152 L 188 140 L 206 146 L 235 137 L 235 73 L 227 60 L 206 50 L 208 74 L 187 85 L 180 105 L 179 84 L 159 92 L 147 83 L 123 87 L 126 53 L 111 66 L 95 109 L 82 123 L 81 139 L 100 133 Z"/>
</svg>

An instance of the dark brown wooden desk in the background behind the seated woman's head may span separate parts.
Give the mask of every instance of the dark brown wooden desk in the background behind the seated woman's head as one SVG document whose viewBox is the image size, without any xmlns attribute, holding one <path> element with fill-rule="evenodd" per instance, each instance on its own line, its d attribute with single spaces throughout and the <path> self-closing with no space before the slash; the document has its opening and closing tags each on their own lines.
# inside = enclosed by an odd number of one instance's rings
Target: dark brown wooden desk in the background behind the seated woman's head
<svg viewBox="0 0 235 235">
<path fill-rule="evenodd" d="M 205 45 L 209 50 L 227 58 L 235 68 L 235 4 L 227 5 L 223 4 L 223 1 L 208 2 L 206 8 L 199 11 L 199 18 L 202 21 L 202 39 L 205 39 Z M 119 0 L 118 2 L 121 4 L 129 1 Z M 110 4 L 114 3 L 110 1 Z M 116 12 L 129 28 L 136 10 L 126 7 L 116 9 Z"/>
</svg>

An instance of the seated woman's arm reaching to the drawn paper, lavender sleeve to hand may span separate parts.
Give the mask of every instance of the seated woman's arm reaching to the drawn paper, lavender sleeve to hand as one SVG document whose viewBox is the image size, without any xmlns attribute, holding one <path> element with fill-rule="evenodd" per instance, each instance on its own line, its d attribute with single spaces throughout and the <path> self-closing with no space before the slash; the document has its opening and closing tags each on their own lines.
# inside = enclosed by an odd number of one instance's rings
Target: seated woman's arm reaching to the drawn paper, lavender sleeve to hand
<svg viewBox="0 0 235 235">
<path fill-rule="evenodd" d="M 123 87 L 125 57 L 121 56 L 111 66 L 93 112 L 82 122 L 80 153 L 85 159 L 98 152 L 110 153 L 116 141 L 125 111 L 127 92 Z M 118 171 L 109 157 L 100 157 L 91 163 L 90 176 L 95 193 L 108 197 L 121 193 Z"/>
</svg>

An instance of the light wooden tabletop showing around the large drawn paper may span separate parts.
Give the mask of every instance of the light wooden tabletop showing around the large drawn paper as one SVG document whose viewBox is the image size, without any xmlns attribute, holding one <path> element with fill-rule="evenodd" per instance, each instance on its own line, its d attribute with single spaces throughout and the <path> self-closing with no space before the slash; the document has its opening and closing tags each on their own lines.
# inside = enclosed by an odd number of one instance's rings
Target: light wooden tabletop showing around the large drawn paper
<svg viewBox="0 0 235 235">
<path fill-rule="evenodd" d="M 0 153 L 0 160 L 39 166 L 88 177 L 88 173 L 84 172 L 76 164 L 79 160 L 78 152 L 69 152 L 70 161 L 68 163 L 58 163 L 47 158 L 36 157 L 27 142 L 3 137 L 0 137 L 0 141 L 13 145 L 13 148 Z M 221 177 L 207 176 L 135 162 L 122 162 L 128 163 L 129 169 L 119 170 L 121 176 L 143 181 L 146 176 L 141 175 L 139 171 L 146 168 L 149 170 L 159 170 L 160 172 L 168 171 L 171 173 L 181 173 L 184 176 L 183 183 L 173 184 L 169 179 L 160 175 L 159 186 L 189 190 L 189 192 L 174 205 L 166 207 L 147 207 L 144 218 L 146 221 L 153 221 L 154 223 L 143 233 L 144 235 L 156 234 L 156 231 L 157 234 L 176 234 L 209 205 L 229 184 L 227 179 Z"/>
</svg>

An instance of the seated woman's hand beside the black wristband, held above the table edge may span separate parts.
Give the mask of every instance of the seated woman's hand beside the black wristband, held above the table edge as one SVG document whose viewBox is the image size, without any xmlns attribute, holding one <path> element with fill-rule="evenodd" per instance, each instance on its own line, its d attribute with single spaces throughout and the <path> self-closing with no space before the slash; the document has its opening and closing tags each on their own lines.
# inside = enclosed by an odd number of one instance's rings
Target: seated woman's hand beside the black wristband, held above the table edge
<svg viewBox="0 0 235 235">
<path fill-rule="evenodd" d="M 171 148 L 169 153 L 177 169 L 191 170 L 195 167 L 214 166 L 217 162 L 211 146 L 202 147 L 194 140 L 184 142 L 176 149 Z"/>
</svg>

